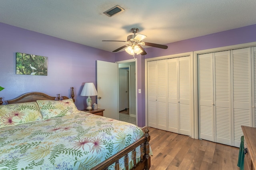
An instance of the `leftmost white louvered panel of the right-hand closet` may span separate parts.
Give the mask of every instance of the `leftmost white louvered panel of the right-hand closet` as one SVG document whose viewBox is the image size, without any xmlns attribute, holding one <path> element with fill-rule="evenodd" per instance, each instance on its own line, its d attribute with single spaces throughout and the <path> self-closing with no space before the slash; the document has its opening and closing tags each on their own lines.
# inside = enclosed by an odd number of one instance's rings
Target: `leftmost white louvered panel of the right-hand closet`
<svg viewBox="0 0 256 170">
<path fill-rule="evenodd" d="M 198 55 L 199 138 L 214 142 L 213 53 Z"/>
</svg>

